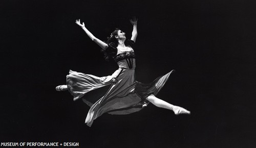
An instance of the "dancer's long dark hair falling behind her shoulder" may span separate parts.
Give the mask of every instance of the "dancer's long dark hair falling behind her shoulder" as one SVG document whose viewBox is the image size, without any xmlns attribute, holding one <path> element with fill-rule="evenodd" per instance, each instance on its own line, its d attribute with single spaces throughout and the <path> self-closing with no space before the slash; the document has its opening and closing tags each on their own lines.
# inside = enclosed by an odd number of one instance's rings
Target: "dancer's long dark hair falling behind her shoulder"
<svg viewBox="0 0 256 148">
<path fill-rule="evenodd" d="M 101 52 L 104 54 L 104 58 L 106 61 L 109 61 L 110 59 L 112 59 L 117 53 L 118 41 L 115 38 L 115 36 L 118 35 L 119 30 L 120 30 L 119 28 L 116 28 L 115 31 L 113 31 L 111 35 L 106 39 L 106 41 L 104 41 L 106 44 L 109 45 L 109 47 L 106 48 L 105 50 L 104 49 L 101 50 Z"/>
</svg>

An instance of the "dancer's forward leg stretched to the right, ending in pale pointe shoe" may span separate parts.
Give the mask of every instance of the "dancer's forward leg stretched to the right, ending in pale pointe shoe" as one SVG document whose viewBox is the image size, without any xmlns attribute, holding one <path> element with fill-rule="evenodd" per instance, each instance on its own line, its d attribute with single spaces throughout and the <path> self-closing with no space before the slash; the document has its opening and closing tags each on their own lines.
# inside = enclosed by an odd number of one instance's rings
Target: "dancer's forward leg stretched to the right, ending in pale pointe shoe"
<svg viewBox="0 0 256 148">
<path fill-rule="evenodd" d="M 149 102 L 151 102 L 152 104 L 154 104 L 157 107 L 172 110 L 172 111 L 174 111 L 174 113 L 176 115 L 179 115 L 179 114 L 190 114 L 190 111 L 188 111 L 188 110 L 186 110 L 186 109 L 184 109 L 182 107 L 169 104 L 169 103 L 161 100 L 160 98 L 157 98 L 154 94 L 151 94 L 150 96 L 147 96 L 146 100 L 148 100 Z"/>
</svg>

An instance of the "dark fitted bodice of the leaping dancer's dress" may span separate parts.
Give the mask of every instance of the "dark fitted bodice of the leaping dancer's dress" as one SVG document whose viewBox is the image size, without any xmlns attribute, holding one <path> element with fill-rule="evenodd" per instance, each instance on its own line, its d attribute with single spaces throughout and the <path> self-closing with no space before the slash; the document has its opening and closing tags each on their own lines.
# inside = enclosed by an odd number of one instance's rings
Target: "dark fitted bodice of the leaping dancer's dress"
<svg viewBox="0 0 256 148">
<path fill-rule="evenodd" d="M 135 69 L 135 53 L 134 51 L 122 52 L 114 57 L 114 61 L 117 62 L 119 68 Z"/>
</svg>

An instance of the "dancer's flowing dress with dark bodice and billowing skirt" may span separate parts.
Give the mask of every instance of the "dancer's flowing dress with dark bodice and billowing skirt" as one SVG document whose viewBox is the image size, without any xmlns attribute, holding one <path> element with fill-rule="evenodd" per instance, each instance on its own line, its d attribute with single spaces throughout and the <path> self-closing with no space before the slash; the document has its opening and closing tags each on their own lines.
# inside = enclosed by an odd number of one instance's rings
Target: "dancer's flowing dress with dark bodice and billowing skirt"
<svg viewBox="0 0 256 148">
<path fill-rule="evenodd" d="M 91 108 L 86 117 L 86 124 L 91 127 L 93 120 L 103 113 L 130 114 L 140 111 L 149 103 L 145 98 L 148 95 L 156 95 L 168 80 L 170 73 L 158 77 L 151 83 L 135 81 L 135 53 L 134 42 L 130 40 L 131 51 L 121 52 L 114 57 L 119 68 L 111 75 L 97 77 L 70 70 L 67 75 L 69 92 L 74 96 L 74 101 L 82 98 L 83 102 Z M 110 47 L 110 46 L 109 46 Z M 113 78 L 117 81 L 113 82 Z M 103 92 L 101 98 L 87 98 L 87 92 L 111 85 L 107 92 Z"/>
</svg>

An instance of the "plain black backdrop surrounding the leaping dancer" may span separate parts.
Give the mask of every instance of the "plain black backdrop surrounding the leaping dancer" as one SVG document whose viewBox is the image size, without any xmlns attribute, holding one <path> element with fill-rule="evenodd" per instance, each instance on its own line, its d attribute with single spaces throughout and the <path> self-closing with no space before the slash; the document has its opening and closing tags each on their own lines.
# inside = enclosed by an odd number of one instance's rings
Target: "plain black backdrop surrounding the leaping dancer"
<svg viewBox="0 0 256 148">
<path fill-rule="evenodd" d="M 1 1 L 1 142 L 79 142 L 80 147 L 255 147 L 253 1 Z M 69 69 L 96 76 L 117 69 L 75 24 L 99 39 L 131 37 L 138 17 L 136 79 L 177 72 L 158 94 L 191 115 L 152 104 L 103 114 L 57 92 Z"/>
</svg>

